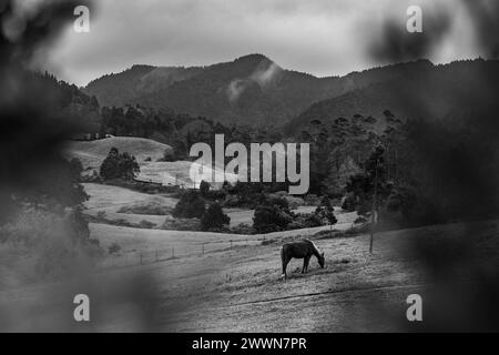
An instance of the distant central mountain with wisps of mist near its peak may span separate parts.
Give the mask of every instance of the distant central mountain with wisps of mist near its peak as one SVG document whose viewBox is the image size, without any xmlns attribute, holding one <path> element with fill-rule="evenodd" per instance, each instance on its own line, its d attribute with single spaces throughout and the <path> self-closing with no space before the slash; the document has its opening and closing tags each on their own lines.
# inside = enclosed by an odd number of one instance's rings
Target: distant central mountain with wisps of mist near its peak
<svg viewBox="0 0 499 355">
<path fill-rule="evenodd" d="M 203 68 L 134 65 L 92 81 L 84 91 L 103 105 L 141 104 L 224 124 L 282 126 L 315 102 L 431 67 L 417 61 L 316 78 L 249 54 Z"/>
</svg>

